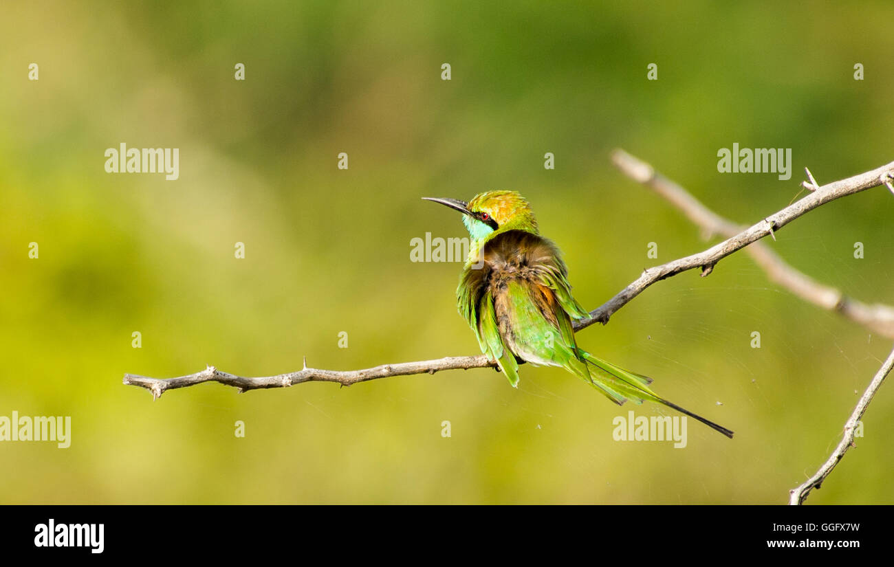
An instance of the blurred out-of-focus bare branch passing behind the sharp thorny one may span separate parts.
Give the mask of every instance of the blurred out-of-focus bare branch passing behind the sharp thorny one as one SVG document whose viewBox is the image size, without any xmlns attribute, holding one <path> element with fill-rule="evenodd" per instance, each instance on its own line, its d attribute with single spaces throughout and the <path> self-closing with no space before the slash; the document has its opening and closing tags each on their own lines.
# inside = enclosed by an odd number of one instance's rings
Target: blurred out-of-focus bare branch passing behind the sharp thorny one
<svg viewBox="0 0 894 567">
<path fill-rule="evenodd" d="M 686 189 L 654 171 L 651 165 L 633 155 L 623 150 L 615 150 L 611 154 L 611 161 L 629 178 L 651 188 L 677 207 L 690 221 L 704 230 L 705 239 L 712 238 L 715 234 L 732 238 L 746 229 L 714 213 Z M 816 191 L 819 186 L 813 174 L 809 170 L 806 170 L 806 173 L 810 182 L 805 181 L 804 187 Z M 745 252 L 755 259 L 755 263 L 767 273 L 772 282 L 789 289 L 801 299 L 827 311 L 841 313 L 851 321 L 883 337 L 894 338 L 894 307 L 883 304 L 868 305 L 845 296 L 839 289 L 823 285 L 805 273 L 797 271 L 763 242 L 747 246 Z"/>
</svg>

